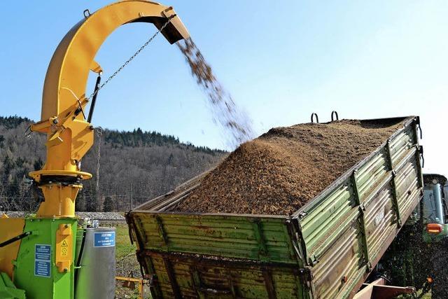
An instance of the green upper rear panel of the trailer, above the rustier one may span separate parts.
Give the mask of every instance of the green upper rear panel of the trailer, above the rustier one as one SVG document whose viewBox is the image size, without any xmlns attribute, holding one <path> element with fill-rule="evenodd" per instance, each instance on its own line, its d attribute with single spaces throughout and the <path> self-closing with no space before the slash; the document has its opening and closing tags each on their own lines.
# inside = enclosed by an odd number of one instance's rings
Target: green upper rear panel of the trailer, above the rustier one
<svg viewBox="0 0 448 299">
<path fill-rule="evenodd" d="M 285 216 L 133 215 L 145 249 L 297 264 Z"/>
</svg>

